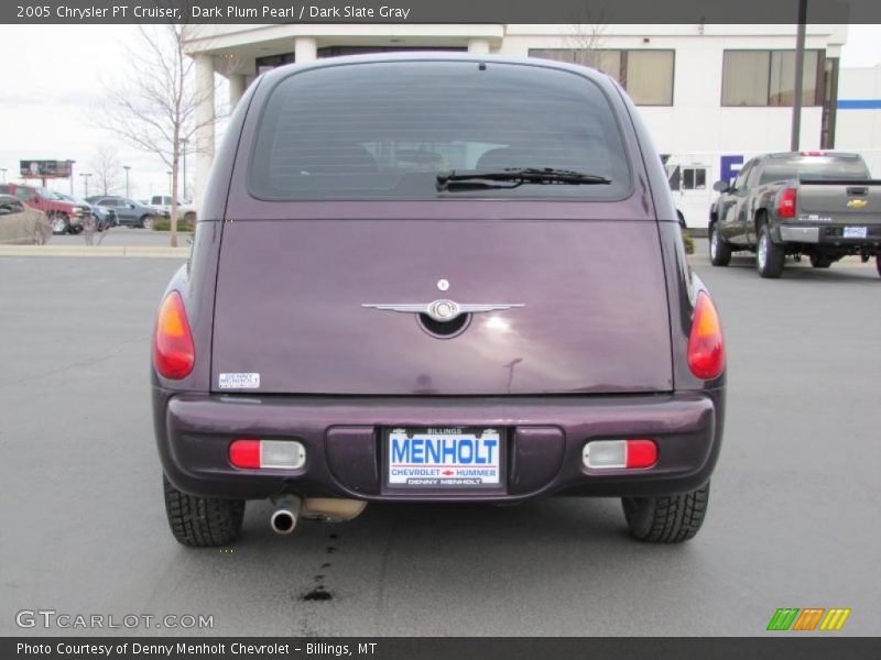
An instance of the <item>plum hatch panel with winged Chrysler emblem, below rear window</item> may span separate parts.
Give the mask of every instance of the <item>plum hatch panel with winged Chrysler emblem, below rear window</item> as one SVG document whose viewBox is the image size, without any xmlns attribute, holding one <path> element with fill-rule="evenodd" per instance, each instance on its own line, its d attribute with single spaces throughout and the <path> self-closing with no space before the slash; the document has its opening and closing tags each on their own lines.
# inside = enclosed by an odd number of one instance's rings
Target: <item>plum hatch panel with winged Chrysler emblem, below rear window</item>
<svg viewBox="0 0 881 660">
<path fill-rule="evenodd" d="M 214 391 L 255 374 L 279 394 L 672 389 L 652 221 L 246 220 L 221 244 Z M 365 307 L 437 299 L 518 307 L 453 338 Z"/>
</svg>

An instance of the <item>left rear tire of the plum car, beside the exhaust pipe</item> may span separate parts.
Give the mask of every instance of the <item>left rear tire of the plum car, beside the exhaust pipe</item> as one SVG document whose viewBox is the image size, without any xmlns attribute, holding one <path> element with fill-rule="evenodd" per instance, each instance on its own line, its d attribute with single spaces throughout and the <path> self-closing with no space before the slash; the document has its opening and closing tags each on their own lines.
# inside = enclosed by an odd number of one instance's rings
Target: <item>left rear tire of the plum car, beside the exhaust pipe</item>
<svg viewBox="0 0 881 660">
<path fill-rule="evenodd" d="M 243 499 L 215 499 L 188 495 L 162 475 L 165 514 L 172 535 L 189 548 L 229 546 L 239 538 L 244 517 Z"/>
</svg>

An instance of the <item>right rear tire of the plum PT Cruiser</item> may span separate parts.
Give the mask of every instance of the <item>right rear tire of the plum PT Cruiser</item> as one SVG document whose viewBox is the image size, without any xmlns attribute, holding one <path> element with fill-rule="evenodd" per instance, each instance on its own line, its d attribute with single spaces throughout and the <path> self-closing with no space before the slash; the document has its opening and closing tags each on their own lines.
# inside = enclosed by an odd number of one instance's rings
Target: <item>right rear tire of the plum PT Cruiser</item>
<svg viewBox="0 0 881 660">
<path fill-rule="evenodd" d="M 679 543 L 694 538 L 704 524 L 709 483 L 681 495 L 623 497 L 630 535 L 649 543 Z"/>
</svg>

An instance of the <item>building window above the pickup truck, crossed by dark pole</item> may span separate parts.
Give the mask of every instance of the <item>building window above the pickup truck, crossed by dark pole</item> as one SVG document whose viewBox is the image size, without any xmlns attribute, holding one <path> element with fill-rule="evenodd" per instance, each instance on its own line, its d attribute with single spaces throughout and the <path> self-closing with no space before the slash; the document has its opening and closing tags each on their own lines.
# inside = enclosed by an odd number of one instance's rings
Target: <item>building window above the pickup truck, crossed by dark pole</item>
<svg viewBox="0 0 881 660">
<path fill-rule="evenodd" d="M 823 56 L 805 51 L 803 106 L 823 105 Z M 791 107 L 795 100 L 795 51 L 726 51 L 722 106 Z"/>
</svg>

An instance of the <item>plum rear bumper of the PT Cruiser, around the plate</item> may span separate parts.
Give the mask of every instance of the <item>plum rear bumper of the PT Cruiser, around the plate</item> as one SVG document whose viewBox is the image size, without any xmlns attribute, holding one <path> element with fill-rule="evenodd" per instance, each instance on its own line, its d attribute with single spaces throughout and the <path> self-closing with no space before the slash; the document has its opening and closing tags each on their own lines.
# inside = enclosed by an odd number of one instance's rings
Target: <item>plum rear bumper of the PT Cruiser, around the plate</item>
<svg viewBox="0 0 881 660">
<path fill-rule="evenodd" d="M 281 493 L 367 501 L 516 502 L 537 495 L 648 496 L 694 490 L 710 476 L 722 436 L 725 391 L 656 396 L 307 397 L 173 394 L 153 389 L 159 452 L 182 491 L 261 499 Z M 505 429 L 501 491 L 390 493 L 382 483 L 381 430 L 398 426 Z M 240 470 L 237 438 L 296 439 L 297 471 Z M 657 463 L 588 470 L 592 439 L 650 438 Z"/>
</svg>

